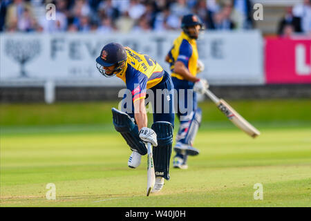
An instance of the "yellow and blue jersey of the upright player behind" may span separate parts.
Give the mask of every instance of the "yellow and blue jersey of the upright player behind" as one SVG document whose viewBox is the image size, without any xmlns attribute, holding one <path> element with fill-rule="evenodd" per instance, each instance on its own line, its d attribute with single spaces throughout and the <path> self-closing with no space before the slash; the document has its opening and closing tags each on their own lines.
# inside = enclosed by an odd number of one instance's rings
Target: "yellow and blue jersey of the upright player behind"
<svg viewBox="0 0 311 221">
<path fill-rule="evenodd" d="M 182 61 L 188 68 L 189 72 L 196 76 L 198 62 L 198 48 L 196 39 L 191 39 L 185 32 L 173 41 L 173 47 L 169 51 L 169 65 L 171 67 L 171 77 L 183 80 L 184 78 L 178 73 L 174 73 L 174 64 L 176 61 Z"/>
</svg>

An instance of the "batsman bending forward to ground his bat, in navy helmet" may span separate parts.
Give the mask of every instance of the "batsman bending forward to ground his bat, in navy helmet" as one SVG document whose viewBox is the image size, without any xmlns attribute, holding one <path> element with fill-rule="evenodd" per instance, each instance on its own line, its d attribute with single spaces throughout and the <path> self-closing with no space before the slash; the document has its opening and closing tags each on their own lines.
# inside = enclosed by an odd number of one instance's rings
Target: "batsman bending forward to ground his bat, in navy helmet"
<svg viewBox="0 0 311 221">
<path fill-rule="evenodd" d="M 105 77 L 119 77 L 130 91 L 130 102 L 124 102 L 125 113 L 113 108 L 113 124 L 131 148 L 128 166 L 135 169 L 142 155 L 147 154 L 147 142 L 153 148 L 156 183 L 151 193 L 157 193 L 169 180 L 169 161 L 173 143 L 173 83 L 169 74 L 148 55 L 131 48 L 110 43 L 96 59 L 97 69 Z M 156 93 L 159 91 L 161 93 Z M 151 96 L 152 94 L 152 96 Z M 128 99 L 124 94 L 123 101 Z M 145 99 L 153 105 L 153 124 L 147 127 Z"/>
</svg>

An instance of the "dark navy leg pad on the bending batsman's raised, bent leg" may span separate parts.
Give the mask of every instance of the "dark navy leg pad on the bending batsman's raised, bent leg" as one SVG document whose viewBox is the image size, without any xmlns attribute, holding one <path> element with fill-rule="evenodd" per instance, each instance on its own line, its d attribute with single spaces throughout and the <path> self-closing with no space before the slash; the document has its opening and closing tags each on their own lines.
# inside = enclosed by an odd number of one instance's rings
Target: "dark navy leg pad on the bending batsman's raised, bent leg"
<svg viewBox="0 0 311 221">
<path fill-rule="evenodd" d="M 131 150 L 138 151 L 140 155 L 147 154 L 147 148 L 138 135 L 138 126 L 133 122 L 131 117 L 116 108 L 111 109 L 113 113 L 113 125 L 115 130 L 120 132 Z"/>
</svg>

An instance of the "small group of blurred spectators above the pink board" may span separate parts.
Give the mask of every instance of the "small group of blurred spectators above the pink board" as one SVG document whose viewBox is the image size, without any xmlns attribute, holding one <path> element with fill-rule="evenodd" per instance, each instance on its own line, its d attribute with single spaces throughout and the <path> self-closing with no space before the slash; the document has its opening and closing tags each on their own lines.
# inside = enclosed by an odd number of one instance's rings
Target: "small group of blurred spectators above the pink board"
<svg viewBox="0 0 311 221">
<path fill-rule="evenodd" d="M 281 37 L 291 37 L 296 33 L 311 35 L 311 0 L 287 7 L 279 22 L 278 34 Z"/>
</svg>

